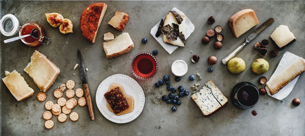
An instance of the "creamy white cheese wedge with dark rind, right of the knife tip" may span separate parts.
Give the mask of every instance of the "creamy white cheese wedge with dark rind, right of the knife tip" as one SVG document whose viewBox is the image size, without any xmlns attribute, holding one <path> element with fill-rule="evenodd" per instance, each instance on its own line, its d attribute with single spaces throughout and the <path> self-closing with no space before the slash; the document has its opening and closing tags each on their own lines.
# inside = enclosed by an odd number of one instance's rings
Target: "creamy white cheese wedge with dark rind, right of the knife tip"
<svg viewBox="0 0 305 136">
<path fill-rule="evenodd" d="M 283 25 L 278 26 L 270 35 L 270 37 L 281 49 L 284 49 L 286 46 L 296 40 L 296 37 L 294 37 L 293 33 L 289 31 L 288 26 Z"/>
</svg>

